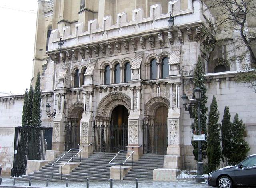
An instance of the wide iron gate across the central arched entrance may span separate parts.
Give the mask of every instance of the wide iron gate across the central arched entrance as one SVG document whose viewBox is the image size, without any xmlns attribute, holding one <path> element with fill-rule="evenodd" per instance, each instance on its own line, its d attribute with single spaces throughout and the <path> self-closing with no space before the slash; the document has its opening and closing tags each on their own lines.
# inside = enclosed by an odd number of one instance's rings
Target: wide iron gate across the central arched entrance
<svg viewBox="0 0 256 188">
<path fill-rule="evenodd" d="M 94 152 L 118 152 L 128 145 L 128 125 L 96 125 L 94 122 Z"/>
</svg>

